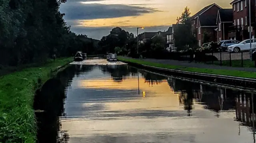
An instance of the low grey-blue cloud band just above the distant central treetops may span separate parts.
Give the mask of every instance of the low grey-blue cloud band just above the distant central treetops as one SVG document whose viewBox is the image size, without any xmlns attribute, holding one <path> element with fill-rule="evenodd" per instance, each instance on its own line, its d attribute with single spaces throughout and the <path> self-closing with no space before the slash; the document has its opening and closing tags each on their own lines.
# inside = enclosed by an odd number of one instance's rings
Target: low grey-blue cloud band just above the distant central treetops
<svg viewBox="0 0 256 143">
<path fill-rule="evenodd" d="M 74 33 L 77 34 L 86 34 L 88 37 L 92 37 L 94 39 L 101 39 L 102 36 L 108 35 L 111 31 L 111 29 L 114 27 L 82 27 L 82 26 L 72 26 L 71 30 Z M 136 27 L 121 27 L 122 29 L 134 33 L 134 35 L 137 34 Z M 162 26 L 152 26 L 152 27 L 145 27 L 145 29 L 140 29 L 139 33 L 146 32 L 156 32 L 156 31 L 164 31 L 167 30 L 168 26 L 162 25 Z"/>
</svg>

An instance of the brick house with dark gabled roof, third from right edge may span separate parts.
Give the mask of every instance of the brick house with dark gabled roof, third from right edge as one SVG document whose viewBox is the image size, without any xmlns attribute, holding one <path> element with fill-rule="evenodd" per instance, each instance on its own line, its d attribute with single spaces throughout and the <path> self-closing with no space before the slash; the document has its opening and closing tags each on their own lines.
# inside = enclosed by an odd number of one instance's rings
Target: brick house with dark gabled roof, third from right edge
<svg viewBox="0 0 256 143">
<path fill-rule="evenodd" d="M 214 29 L 217 28 L 216 17 L 220 9 L 222 8 L 217 4 L 210 4 L 190 18 L 192 31 L 198 40 L 198 46 L 202 45 L 203 34 L 206 31 L 212 35 L 212 41 L 216 41 L 217 34 Z"/>
</svg>

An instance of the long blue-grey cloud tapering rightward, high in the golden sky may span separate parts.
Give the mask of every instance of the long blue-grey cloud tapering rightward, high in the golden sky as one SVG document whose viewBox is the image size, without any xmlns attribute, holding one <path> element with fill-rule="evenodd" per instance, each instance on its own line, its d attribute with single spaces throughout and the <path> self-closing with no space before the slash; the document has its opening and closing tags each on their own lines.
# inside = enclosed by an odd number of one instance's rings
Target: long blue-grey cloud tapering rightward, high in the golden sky
<svg viewBox="0 0 256 143">
<path fill-rule="evenodd" d="M 65 13 L 65 20 L 119 18 L 124 16 L 139 16 L 141 14 L 153 13 L 157 11 L 158 10 L 154 8 L 146 8 L 142 6 L 128 6 L 122 4 L 82 4 L 74 1 L 67 2 L 60 7 L 60 12 Z"/>
</svg>

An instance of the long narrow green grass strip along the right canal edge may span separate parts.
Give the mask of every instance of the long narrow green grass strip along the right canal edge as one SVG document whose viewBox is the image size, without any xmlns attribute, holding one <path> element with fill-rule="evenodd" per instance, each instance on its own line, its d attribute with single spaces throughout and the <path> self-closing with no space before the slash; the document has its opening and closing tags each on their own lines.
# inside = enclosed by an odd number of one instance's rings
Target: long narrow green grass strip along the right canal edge
<svg viewBox="0 0 256 143">
<path fill-rule="evenodd" d="M 149 65 L 149 66 L 160 67 L 160 68 L 166 68 L 166 69 L 178 69 L 178 70 L 190 71 L 190 72 L 219 74 L 219 75 L 228 75 L 228 76 L 236 76 L 236 77 L 244 77 L 244 78 L 256 78 L 256 72 L 182 67 L 182 66 L 176 66 L 176 65 L 160 64 L 160 63 L 142 61 L 142 60 L 139 60 L 139 59 L 127 59 L 127 58 L 124 58 L 124 57 L 118 57 L 118 60 L 123 61 L 123 62 L 132 62 L 132 63 L 138 63 L 138 64 Z"/>
</svg>

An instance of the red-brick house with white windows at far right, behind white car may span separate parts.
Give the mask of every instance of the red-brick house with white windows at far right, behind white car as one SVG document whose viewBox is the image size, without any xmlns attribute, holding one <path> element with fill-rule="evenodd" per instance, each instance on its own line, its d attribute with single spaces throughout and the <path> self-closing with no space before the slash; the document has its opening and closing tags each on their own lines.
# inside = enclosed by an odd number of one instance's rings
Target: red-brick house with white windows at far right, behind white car
<svg viewBox="0 0 256 143">
<path fill-rule="evenodd" d="M 243 41 L 249 39 L 249 0 L 233 0 L 231 3 L 233 10 L 233 25 L 229 27 L 228 38 Z M 255 24 L 255 0 L 251 0 L 251 25 Z M 254 30 L 252 31 L 254 38 Z"/>
</svg>

